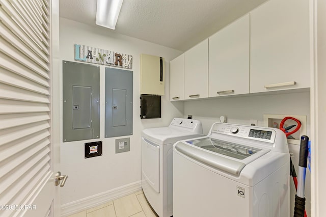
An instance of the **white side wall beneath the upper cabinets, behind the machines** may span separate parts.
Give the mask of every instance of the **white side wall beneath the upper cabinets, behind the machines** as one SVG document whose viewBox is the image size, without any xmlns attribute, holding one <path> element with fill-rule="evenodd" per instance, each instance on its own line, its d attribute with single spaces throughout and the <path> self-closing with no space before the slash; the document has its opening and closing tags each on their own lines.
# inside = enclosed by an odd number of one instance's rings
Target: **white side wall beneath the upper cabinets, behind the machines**
<svg viewBox="0 0 326 217">
<path fill-rule="evenodd" d="M 232 98 L 217 98 L 184 102 L 184 117 L 193 115 L 193 119 L 203 124 L 204 134 L 207 134 L 214 122 L 220 122 L 220 116 L 227 116 L 228 123 L 249 125 L 250 119 L 258 120 L 258 126 L 263 126 L 263 114 L 306 115 L 307 135 L 310 136 L 310 93 L 288 93 L 260 96 L 242 96 Z M 293 153 L 292 161 L 298 172 L 298 145 L 289 144 Z M 310 216 L 310 172 L 306 174 L 306 211 Z M 291 183 L 291 207 L 294 207 L 295 188 Z M 291 211 L 291 215 L 293 212 Z"/>
</svg>

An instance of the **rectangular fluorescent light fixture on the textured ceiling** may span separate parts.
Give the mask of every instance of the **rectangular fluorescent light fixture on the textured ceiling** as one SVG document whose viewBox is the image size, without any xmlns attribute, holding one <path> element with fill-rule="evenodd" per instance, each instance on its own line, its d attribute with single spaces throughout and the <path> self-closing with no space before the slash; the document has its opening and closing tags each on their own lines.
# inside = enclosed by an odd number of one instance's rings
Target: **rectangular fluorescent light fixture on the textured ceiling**
<svg viewBox="0 0 326 217">
<path fill-rule="evenodd" d="M 123 0 L 97 0 L 97 25 L 115 30 Z"/>
</svg>

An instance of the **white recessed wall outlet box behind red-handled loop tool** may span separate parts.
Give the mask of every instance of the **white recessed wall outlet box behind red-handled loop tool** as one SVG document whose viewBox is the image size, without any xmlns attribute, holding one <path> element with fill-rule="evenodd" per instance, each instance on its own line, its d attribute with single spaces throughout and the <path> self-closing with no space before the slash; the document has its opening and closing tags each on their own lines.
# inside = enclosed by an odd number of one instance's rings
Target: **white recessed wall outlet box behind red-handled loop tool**
<svg viewBox="0 0 326 217">
<path fill-rule="evenodd" d="M 301 122 L 301 127 L 298 131 L 291 134 L 294 139 L 287 139 L 289 144 L 300 145 L 300 138 L 302 135 L 307 135 L 307 116 L 306 115 L 274 115 L 274 114 L 263 114 L 264 118 L 264 127 L 276 127 L 280 128 L 280 123 L 283 118 L 285 117 L 292 117 Z M 284 124 L 284 127 L 295 125 L 296 122 L 293 120 L 287 120 Z M 276 126 L 275 126 L 276 125 Z M 296 126 L 289 129 L 288 131 L 291 132 L 294 130 Z"/>
</svg>

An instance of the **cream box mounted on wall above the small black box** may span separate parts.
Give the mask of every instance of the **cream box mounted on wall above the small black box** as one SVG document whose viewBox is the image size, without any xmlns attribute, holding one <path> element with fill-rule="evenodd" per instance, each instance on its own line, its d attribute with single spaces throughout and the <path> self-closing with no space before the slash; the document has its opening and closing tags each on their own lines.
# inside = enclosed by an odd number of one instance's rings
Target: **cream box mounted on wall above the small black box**
<svg viewBox="0 0 326 217">
<path fill-rule="evenodd" d="M 141 54 L 141 94 L 164 95 L 164 58 Z"/>
</svg>

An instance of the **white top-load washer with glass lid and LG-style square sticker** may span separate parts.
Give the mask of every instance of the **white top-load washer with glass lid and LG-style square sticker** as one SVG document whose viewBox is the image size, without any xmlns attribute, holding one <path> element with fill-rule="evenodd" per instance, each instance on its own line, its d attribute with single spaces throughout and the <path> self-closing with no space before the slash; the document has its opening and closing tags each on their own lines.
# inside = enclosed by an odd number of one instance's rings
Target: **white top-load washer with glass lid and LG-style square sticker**
<svg viewBox="0 0 326 217">
<path fill-rule="evenodd" d="M 214 123 L 173 146 L 173 216 L 290 216 L 290 155 L 276 128 Z"/>
</svg>

